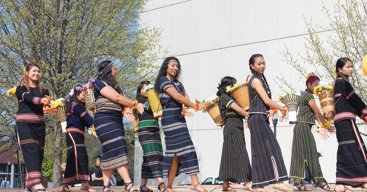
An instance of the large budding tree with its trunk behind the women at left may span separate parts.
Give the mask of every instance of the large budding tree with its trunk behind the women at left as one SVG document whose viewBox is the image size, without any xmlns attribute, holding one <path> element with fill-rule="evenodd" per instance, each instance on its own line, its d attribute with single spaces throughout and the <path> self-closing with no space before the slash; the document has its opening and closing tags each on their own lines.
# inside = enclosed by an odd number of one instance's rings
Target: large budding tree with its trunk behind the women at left
<svg viewBox="0 0 367 192">
<path fill-rule="evenodd" d="M 151 63 L 160 48 L 160 31 L 138 25 L 145 2 L 0 1 L 1 93 L 16 85 L 22 68 L 34 62 L 41 66 L 41 83 L 51 96 L 66 97 L 72 87 L 96 75 L 101 61 L 113 60 L 117 80 L 131 97 L 137 82 L 153 75 Z M 0 103 L 1 132 L 12 132 L 17 105 L 9 97 L 1 97 Z M 52 181 L 60 186 L 64 134 L 54 114 L 45 120 L 54 140 Z"/>
</svg>

